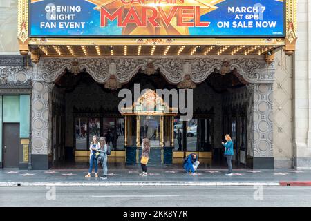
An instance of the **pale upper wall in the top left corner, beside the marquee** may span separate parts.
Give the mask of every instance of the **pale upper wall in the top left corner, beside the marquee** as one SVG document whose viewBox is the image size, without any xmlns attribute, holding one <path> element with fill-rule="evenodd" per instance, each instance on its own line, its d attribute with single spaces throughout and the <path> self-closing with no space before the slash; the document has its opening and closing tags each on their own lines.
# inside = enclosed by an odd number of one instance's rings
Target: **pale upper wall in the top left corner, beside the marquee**
<svg viewBox="0 0 311 221">
<path fill-rule="evenodd" d="M 19 54 L 17 0 L 0 1 L 0 55 Z"/>
</svg>

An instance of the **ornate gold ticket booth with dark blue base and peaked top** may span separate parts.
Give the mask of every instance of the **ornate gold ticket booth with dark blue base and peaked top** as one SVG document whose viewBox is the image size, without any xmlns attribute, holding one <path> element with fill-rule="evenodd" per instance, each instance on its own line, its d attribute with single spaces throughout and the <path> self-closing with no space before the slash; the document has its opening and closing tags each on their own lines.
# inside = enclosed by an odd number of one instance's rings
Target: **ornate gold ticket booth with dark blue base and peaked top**
<svg viewBox="0 0 311 221">
<path fill-rule="evenodd" d="M 126 164 L 139 163 L 144 135 L 151 144 L 149 164 L 172 163 L 177 108 L 169 107 L 155 91 L 147 90 L 132 106 L 122 108 L 122 115 Z"/>
</svg>

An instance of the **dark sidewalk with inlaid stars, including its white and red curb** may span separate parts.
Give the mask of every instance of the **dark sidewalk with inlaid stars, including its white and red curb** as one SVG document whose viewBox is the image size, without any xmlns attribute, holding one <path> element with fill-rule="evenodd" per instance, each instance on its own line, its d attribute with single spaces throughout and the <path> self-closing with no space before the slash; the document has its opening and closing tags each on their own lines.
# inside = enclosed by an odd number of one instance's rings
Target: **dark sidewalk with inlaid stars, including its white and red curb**
<svg viewBox="0 0 311 221">
<path fill-rule="evenodd" d="M 236 169 L 231 177 L 226 169 L 198 169 L 198 175 L 187 175 L 174 167 L 149 167 L 141 177 L 140 167 L 109 169 L 108 179 L 85 178 L 87 169 L 48 171 L 0 170 L 0 186 L 311 186 L 311 171 Z M 102 174 L 102 170 L 99 171 Z"/>
</svg>

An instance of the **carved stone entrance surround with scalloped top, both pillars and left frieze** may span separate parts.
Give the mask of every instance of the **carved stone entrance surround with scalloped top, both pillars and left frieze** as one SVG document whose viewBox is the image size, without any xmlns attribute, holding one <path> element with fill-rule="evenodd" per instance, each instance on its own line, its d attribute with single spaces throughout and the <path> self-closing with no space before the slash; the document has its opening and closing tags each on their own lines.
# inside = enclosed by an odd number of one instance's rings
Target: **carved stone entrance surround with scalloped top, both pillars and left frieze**
<svg viewBox="0 0 311 221">
<path fill-rule="evenodd" d="M 8 61 L 2 61 L 8 62 Z M 7 63 L 6 63 L 7 64 Z M 65 70 L 73 74 L 86 71 L 99 84 L 115 90 L 131 81 L 133 76 L 148 70 L 151 65 L 154 70 L 171 84 L 184 88 L 194 88 L 205 81 L 214 71 L 234 71 L 235 75 L 247 83 L 247 92 L 234 93 L 231 102 L 246 102 L 249 118 L 247 120 L 248 142 L 250 154 L 263 161 L 270 160 L 273 164 L 273 91 L 274 63 L 267 64 L 262 57 L 244 57 L 230 59 L 211 58 L 43 58 L 38 64 L 29 68 L 1 68 L 2 84 L 10 85 L 15 82 L 21 86 L 32 85 L 32 155 L 48 155 L 51 152 L 52 104 L 55 98 L 51 97 L 55 81 L 61 77 Z M 8 75 L 10 72 L 10 75 Z M 111 87 L 111 79 L 117 86 Z M 190 84 L 183 84 L 185 80 Z M 187 86 L 190 85 L 190 86 Z M 55 96 L 54 96 L 55 97 Z M 53 100 L 51 102 L 51 99 Z M 58 99 L 59 100 L 59 99 Z M 246 104 L 245 103 L 245 104 Z M 49 151 L 50 150 L 50 151 Z M 272 160 L 272 163 L 271 163 Z M 258 163 L 259 167 L 261 163 Z"/>
</svg>

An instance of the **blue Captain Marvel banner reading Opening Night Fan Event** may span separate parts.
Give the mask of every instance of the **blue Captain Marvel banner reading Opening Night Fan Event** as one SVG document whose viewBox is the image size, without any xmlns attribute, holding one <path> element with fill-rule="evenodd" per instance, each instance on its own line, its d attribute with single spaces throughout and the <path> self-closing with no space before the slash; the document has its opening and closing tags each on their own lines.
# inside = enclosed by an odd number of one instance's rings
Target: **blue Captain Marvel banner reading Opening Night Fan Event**
<svg viewBox="0 0 311 221">
<path fill-rule="evenodd" d="M 283 0 L 31 0 L 30 37 L 284 37 Z"/>
</svg>

